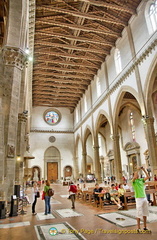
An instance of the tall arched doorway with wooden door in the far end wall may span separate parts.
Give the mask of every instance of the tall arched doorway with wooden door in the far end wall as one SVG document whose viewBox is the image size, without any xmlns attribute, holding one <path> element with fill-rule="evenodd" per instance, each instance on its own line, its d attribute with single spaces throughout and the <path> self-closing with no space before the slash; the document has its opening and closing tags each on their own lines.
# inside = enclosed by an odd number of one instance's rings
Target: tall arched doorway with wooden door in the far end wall
<svg viewBox="0 0 157 240">
<path fill-rule="evenodd" d="M 49 147 L 44 154 L 45 178 L 55 182 L 61 178 L 61 157 L 56 147 Z"/>
</svg>

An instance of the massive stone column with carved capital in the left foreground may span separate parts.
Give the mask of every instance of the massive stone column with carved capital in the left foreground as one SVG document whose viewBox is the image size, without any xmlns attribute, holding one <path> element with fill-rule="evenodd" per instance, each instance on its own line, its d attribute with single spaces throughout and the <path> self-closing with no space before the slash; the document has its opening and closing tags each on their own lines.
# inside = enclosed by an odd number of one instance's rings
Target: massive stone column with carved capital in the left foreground
<svg viewBox="0 0 157 240">
<path fill-rule="evenodd" d="M 7 192 L 6 196 L 10 200 L 10 195 L 14 191 L 20 87 L 26 56 L 19 48 L 4 47 L 2 49 L 2 59 L 4 65 L 2 86 L 4 146 L 7 146 L 4 156 L 4 176 L 6 181 L 3 187 Z"/>
</svg>

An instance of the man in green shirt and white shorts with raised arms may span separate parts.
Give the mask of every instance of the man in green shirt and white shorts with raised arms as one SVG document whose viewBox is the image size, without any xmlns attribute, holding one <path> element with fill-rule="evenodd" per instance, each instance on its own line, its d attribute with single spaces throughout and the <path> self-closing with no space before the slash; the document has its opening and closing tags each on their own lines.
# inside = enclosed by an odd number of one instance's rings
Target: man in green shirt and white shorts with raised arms
<svg viewBox="0 0 157 240">
<path fill-rule="evenodd" d="M 139 178 L 138 171 L 143 170 L 145 173 L 145 178 Z M 137 227 L 138 232 L 140 232 L 140 218 L 143 217 L 144 222 L 144 229 L 145 231 L 148 231 L 146 222 L 147 217 L 149 215 L 148 211 L 148 201 L 145 193 L 145 181 L 149 179 L 149 175 L 147 171 L 143 167 L 137 168 L 137 171 L 134 173 L 133 179 L 132 179 L 132 185 L 135 191 L 135 199 L 136 199 L 136 210 L 137 210 Z"/>
</svg>

